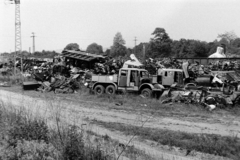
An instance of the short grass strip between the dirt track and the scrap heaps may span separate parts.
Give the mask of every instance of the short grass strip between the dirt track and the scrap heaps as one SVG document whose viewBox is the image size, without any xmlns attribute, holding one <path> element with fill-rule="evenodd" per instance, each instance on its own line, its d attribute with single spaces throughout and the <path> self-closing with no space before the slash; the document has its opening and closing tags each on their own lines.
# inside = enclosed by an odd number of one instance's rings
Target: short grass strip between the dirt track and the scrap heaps
<svg viewBox="0 0 240 160">
<path fill-rule="evenodd" d="M 200 104 L 185 104 L 185 103 L 169 103 L 161 104 L 157 99 L 145 99 L 137 94 L 116 94 L 116 95 L 94 95 L 89 92 L 89 89 L 82 86 L 76 94 L 54 94 L 53 92 L 37 92 L 24 91 L 22 87 L 15 85 L 13 87 L 4 88 L 13 92 L 21 92 L 21 94 L 29 95 L 37 98 L 54 99 L 56 97 L 62 100 L 68 100 L 80 104 L 91 104 L 91 106 L 103 107 L 107 109 L 126 110 L 129 112 L 140 112 L 144 114 L 152 114 L 155 116 L 165 117 L 184 117 L 193 121 L 201 121 L 212 119 L 218 121 L 218 117 L 239 117 L 240 108 L 225 108 L 208 111 Z"/>
</svg>

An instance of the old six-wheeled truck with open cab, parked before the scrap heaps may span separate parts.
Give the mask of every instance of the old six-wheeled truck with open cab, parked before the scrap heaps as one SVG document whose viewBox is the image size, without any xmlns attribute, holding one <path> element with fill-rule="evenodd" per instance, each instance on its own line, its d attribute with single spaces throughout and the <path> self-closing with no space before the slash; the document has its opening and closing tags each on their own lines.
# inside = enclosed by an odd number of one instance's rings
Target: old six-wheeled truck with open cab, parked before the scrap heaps
<svg viewBox="0 0 240 160">
<path fill-rule="evenodd" d="M 144 98 L 159 98 L 164 91 L 147 70 L 140 68 L 121 68 L 118 74 L 113 75 L 92 75 L 88 87 L 96 95 L 113 95 L 122 91 L 139 93 Z"/>
</svg>

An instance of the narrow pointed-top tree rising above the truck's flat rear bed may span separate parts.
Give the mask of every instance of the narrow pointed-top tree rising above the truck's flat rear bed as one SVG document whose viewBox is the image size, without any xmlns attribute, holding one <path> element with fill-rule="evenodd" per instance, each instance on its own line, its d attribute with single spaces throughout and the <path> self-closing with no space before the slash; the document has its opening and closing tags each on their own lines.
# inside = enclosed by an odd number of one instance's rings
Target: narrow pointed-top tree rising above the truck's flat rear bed
<svg viewBox="0 0 240 160">
<path fill-rule="evenodd" d="M 127 54 L 127 48 L 124 45 L 125 40 L 122 38 L 122 34 L 118 32 L 113 39 L 113 46 L 111 46 L 111 56 L 125 56 Z"/>
</svg>

